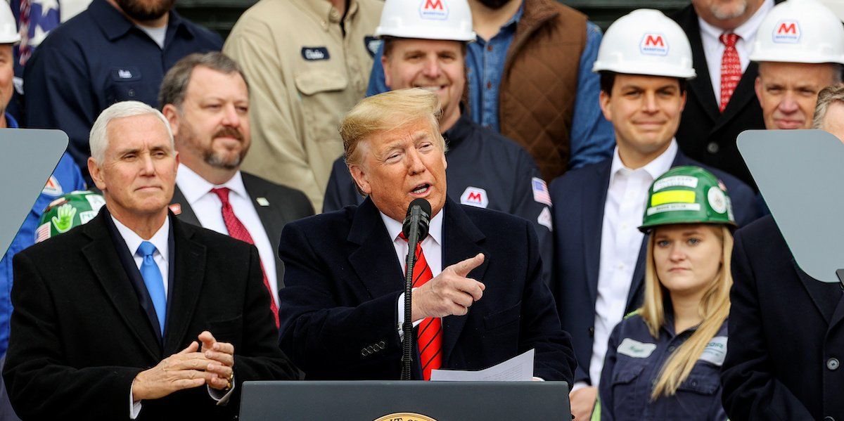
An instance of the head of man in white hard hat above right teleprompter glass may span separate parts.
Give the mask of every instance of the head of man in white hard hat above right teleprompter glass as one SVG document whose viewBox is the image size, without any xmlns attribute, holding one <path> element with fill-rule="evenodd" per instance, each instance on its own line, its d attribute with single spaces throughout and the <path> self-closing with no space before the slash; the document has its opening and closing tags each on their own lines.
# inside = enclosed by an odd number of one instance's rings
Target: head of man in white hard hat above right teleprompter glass
<svg viewBox="0 0 844 421">
<path fill-rule="evenodd" d="M 788 0 L 760 25 L 750 60 L 759 62 L 755 89 L 765 127 L 811 128 L 820 89 L 841 82 L 844 27 L 815 0 Z"/>
</svg>

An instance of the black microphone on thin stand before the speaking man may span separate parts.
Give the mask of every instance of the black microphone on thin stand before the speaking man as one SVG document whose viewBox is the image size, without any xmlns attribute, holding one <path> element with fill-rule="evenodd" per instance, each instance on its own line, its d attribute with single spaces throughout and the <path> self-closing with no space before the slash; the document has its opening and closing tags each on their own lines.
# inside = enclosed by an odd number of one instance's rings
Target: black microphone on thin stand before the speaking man
<svg viewBox="0 0 844 421">
<path fill-rule="evenodd" d="M 414 199 L 408 206 L 404 217 L 402 233 L 408 240 L 408 256 L 405 259 L 404 272 L 404 322 L 402 324 L 402 380 L 410 380 L 410 362 L 414 354 L 414 323 L 412 317 L 411 294 L 414 288 L 414 264 L 416 263 L 416 245 L 425 240 L 430 226 L 430 203 L 423 199 Z"/>
</svg>

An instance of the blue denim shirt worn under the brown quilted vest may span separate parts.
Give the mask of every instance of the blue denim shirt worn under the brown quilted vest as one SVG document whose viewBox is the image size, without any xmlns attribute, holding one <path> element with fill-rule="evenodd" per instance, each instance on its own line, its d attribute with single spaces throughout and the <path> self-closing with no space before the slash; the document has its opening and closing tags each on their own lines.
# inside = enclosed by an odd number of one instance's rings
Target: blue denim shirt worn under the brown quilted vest
<svg viewBox="0 0 844 421">
<path fill-rule="evenodd" d="M 522 7 L 523 8 L 523 7 Z M 468 43 L 466 67 L 469 87 L 469 110 L 473 121 L 483 127 L 500 132 L 498 114 L 501 75 L 507 50 L 510 49 L 516 27 L 522 19 L 522 8 L 501 26 L 497 35 L 490 40 L 476 37 Z M 592 64 L 598 57 L 601 46 L 601 30 L 592 22 L 587 23 L 587 41 L 577 73 L 577 96 L 571 122 L 571 168 L 599 162 L 612 155 L 615 147 L 613 125 L 603 118 L 598 105 L 600 78 L 592 73 Z M 369 88 L 366 96 L 381 94 L 390 90 L 384 83 L 384 69 L 381 67 L 383 46 L 376 53 L 372 64 Z"/>
</svg>

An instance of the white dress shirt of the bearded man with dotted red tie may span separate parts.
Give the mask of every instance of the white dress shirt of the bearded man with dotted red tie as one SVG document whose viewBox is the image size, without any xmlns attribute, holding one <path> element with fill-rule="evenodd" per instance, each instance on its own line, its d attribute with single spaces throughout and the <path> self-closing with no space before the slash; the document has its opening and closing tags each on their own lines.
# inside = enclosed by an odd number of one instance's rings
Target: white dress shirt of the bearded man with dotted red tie
<svg viewBox="0 0 844 421">
<path fill-rule="evenodd" d="M 187 199 L 187 204 L 190 205 L 193 213 L 196 213 L 199 224 L 202 224 L 203 228 L 212 229 L 225 235 L 229 235 L 229 229 L 225 228 L 223 221 L 223 202 L 220 202 L 217 194 L 211 192 L 211 189 L 229 188 L 231 208 L 234 209 L 237 219 L 240 219 L 249 231 L 249 235 L 252 235 L 252 241 L 255 241 L 258 256 L 261 257 L 261 263 L 267 275 L 267 281 L 270 289 L 273 290 L 273 300 L 278 306 L 279 279 L 275 273 L 275 253 L 273 253 L 273 246 L 269 242 L 267 231 L 263 228 L 261 219 L 258 218 L 255 205 L 252 204 L 252 198 L 249 197 L 246 187 L 243 186 L 241 171 L 237 171 L 235 176 L 231 177 L 231 180 L 219 186 L 214 186 L 202 176 L 187 168 L 186 165 L 179 164 L 179 170 L 176 172 L 176 186 L 179 186 L 181 194 L 185 195 L 185 199 Z M 182 203 L 182 206 L 184 206 L 184 203 Z"/>
</svg>

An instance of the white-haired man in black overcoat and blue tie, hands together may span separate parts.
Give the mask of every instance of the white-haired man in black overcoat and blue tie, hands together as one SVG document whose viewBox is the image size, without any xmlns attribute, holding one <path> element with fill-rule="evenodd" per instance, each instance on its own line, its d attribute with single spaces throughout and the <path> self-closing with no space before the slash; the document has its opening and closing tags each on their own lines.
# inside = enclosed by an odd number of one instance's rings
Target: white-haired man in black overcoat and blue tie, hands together
<svg viewBox="0 0 844 421">
<path fill-rule="evenodd" d="M 118 102 L 91 129 L 106 208 L 14 257 L 3 378 L 23 419 L 233 419 L 243 381 L 298 375 L 255 246 L 179 222 L 164 116 Z"/>
</svg>

